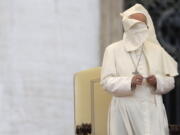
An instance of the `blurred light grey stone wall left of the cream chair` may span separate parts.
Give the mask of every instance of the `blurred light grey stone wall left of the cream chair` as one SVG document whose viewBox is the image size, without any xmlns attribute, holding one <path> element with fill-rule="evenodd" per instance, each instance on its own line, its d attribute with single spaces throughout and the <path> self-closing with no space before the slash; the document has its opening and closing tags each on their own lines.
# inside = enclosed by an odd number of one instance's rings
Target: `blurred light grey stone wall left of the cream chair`
<svg viewBox="0 0 180 135">
<path fill-rule="evenodd" d="M 73 135 L 73 74 L 99 65 L 98 0 L 0 1 L 0 135 Z"/>
</svg>

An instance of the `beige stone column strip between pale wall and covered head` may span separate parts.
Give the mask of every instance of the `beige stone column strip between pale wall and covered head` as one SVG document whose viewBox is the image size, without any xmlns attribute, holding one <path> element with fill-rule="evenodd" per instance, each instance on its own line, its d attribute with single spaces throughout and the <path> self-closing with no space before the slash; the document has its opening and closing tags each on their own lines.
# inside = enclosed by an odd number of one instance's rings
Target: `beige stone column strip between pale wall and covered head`
<svg viewBox="0 0 180 135">
<path fill-rule="evenodd" d="M 122 23 L 119 13 L 122 12 L 124 6 L 123 0 L 100 0 L 100 2 L 100 60 L 102 61 L 105 47 L 122 38 Z"/>
</svg>

